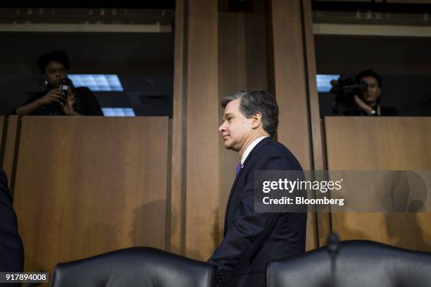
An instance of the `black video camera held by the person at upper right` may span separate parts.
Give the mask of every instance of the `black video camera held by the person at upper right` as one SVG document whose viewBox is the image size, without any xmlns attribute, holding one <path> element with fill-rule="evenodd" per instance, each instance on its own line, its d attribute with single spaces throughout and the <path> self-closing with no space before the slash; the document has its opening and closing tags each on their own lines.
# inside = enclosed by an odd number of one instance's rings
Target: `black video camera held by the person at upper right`
<svg viewBox="0 0 431 287">
<path fill-rule="evenodd" d="M 335 107 L 333 113 L 339 115 L 356 115 L 361 113 L 361 108 L 356 105 L 355 95 L 362 96 L 363 91 L 368 89 L 366 82 L 357 83 L 351 77 L 339 77 L 330 82 L 332 89 L 330 94 L 335 95 Z"/>
</svg>

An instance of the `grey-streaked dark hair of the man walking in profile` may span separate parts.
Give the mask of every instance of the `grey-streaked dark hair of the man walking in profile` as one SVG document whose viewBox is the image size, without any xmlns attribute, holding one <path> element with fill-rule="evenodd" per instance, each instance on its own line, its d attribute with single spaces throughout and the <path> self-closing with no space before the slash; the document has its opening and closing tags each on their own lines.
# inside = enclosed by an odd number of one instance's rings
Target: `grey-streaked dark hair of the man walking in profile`
<svg viewBox="0 0 431 287">
<path fill-rule="evenodd" d="M 265 132 L 274 136 L 278 126 L 278 105 L 273 95 L 266 91 L 237 91 L 223 100 L 221 106 L 226 108 L 227 104 L 241 98 L 239 110 L 246 117 L 250 118 L 254 113 L 262 114 L 262 125 Z"/>
</svg>

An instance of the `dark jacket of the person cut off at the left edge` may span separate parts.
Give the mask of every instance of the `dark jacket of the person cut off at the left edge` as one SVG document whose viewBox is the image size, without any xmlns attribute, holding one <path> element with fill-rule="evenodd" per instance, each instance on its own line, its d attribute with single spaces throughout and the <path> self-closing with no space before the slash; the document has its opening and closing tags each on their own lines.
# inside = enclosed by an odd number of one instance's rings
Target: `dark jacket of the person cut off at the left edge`
<svg viewBox="0 0 431 287">
<path fill-rule="evenodd" d="M 23 267 L 23 242 L 18 234 L 8 180 L 0 168 L 0 272 L 23 272 Z"/>
</svg>

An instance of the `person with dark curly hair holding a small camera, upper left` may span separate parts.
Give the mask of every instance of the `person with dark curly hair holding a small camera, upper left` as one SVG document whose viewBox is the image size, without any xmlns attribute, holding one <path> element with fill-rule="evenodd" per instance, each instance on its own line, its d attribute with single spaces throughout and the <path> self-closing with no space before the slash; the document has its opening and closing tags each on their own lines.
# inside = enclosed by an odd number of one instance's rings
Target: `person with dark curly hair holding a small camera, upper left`
<svg viewBox="0 0 431 287">
<path fill-rule="evenodd" d="M 45 91 L 30 97 L 11 115 L 103 115 L 92 91 L 87 87 L 74 88 L 68 79 L 70 60 L 66 53 L 44 53 L 37 65 L 46 79 Z"/>
</svg>

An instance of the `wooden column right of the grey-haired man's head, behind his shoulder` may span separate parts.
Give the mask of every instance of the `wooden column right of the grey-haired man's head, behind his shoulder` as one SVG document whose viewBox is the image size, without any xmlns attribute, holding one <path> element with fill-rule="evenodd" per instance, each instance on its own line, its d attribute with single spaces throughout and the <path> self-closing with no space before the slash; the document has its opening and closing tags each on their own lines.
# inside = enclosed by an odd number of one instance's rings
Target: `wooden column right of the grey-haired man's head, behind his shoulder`
<svg viewBox="0 0 431 287">
<path fill-rule="evenodd" d="M 294 153 L 304 170 L 311 170 L 314 166 L 311 153 L 316 153 L 318 162 L 316 168 L 322 167 L 316 98 L 316 61 L 313 56 L 313 32 L 312 23 L 310 23 L 311 4 L 302 0 L 274 0 L 271 1 L 270 11 L 273 29 L 275 97 L 280 107 L 278 141 Z M 305 42 L 304 39 L 306 39 Z M 308 105 L 313 109 L 313 113 L 308 111 Z M 313 123 L 313 133 L 310 121 Z M 312 134 L 316 141 L 313 144 L 316 146 L 312 146 Z M 306 249 L 311 250 L 316 247 L 316 218 L 310 213 L 307 222 Z"/>
</svg>

